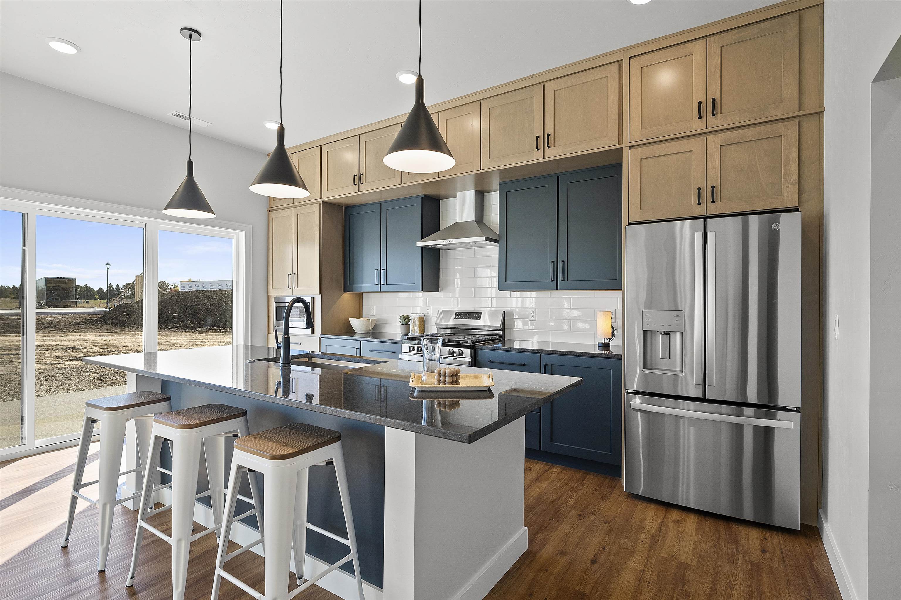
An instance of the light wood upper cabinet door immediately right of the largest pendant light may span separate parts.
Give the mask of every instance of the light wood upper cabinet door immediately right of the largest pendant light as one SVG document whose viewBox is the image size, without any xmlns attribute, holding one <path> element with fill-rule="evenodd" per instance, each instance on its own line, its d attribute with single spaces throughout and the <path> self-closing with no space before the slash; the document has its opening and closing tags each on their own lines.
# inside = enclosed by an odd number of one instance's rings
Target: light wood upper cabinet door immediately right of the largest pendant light
<svg viewBox="0 0 901 600">
<path fill-rule="evenodd" d="M 482 168 L 544 156 L 543 105 L 541 84 L 482 100 Z"/>
</svg>

